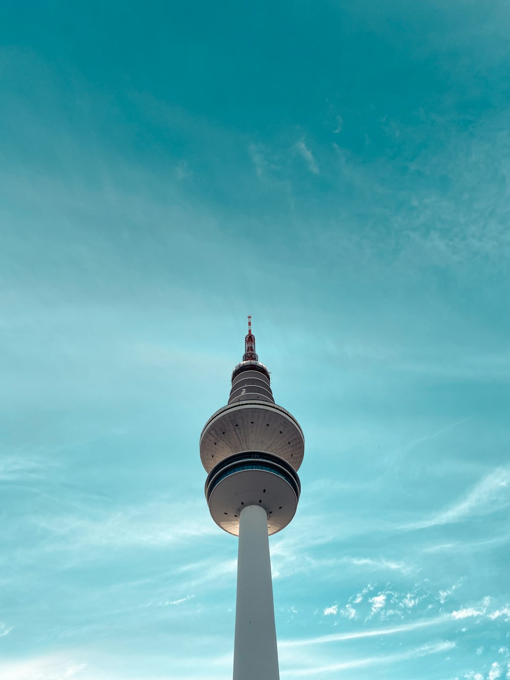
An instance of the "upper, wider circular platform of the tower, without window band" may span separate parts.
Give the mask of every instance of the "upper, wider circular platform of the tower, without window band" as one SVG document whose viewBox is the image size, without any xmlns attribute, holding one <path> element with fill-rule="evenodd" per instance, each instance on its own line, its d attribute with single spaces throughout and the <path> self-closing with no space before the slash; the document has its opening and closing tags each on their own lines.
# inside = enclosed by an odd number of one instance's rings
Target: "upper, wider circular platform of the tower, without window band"
<svg viewBox="0 0 510 680">
<path fill-rule="evenodd" d="M 200 458 L 207 472 L 240 451 L 265 451 L 299 470 L 305 437 L 288 411 L 270 401 L 234 401 L 211 415 L 200 437 Z"/>
</svg>

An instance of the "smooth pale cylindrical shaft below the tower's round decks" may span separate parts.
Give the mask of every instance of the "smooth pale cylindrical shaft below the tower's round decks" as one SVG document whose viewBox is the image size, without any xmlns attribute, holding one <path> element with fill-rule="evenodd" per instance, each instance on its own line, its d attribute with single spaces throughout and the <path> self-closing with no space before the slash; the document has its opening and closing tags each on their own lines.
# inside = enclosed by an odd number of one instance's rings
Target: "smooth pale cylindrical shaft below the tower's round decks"
<svg viewBox="0 0 510 680">
<path fill-rule="evenodd" d="M 279 680 L 267 513 L 239 515 L 233 680 Z"/>
</svg>

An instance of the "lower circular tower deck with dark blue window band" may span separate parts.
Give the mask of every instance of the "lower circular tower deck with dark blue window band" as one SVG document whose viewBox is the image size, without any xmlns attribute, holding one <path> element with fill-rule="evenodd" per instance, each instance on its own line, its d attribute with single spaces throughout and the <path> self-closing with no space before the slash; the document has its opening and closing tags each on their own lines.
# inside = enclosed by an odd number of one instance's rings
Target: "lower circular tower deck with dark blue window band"
<svg viewBox="0 0 510 680">
<path fill-rule="evenodd" d="M 292 465 L 263 451 L 228 456 L 211 470 L 205 498 L 214 522 L 239 536 L 239 515 L 244 507 L 260 505 L 267 513 L 267 531 L 275 534 L 296 513 L 301 483 Z"/>
</svg>

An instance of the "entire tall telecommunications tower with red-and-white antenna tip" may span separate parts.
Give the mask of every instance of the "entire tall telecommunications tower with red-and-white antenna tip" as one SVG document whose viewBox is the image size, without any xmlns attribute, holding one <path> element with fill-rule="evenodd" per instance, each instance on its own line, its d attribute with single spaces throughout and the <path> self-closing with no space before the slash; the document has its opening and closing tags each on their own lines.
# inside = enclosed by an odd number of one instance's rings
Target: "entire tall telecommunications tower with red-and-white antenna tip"
<svg viewBox="0 0 510 680">
<path fill-rule="evenodd" d="M 200 437 L 211 517 L 239 536 L 233 680 L 279 679 L 268 537 L 296 513 L 304 453 L 299 423 L 275 404 L 248 316 L 228 404 L 211 415 Z"/>
</svg>

